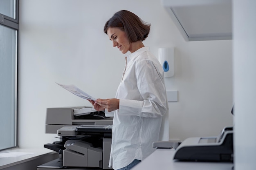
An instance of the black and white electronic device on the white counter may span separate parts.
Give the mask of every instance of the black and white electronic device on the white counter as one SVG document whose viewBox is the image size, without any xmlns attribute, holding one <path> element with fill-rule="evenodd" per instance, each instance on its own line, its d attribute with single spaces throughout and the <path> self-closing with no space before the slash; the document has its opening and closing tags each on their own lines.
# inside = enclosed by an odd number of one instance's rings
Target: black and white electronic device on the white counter
<svg viewBox="0 0 256 170">
<path fill-rule="evenodd" d="M 225 127 L 218 137 L 191 137 L 175 150 L 179 161 L 233 162 L 233 127 Z"/>
</svg>

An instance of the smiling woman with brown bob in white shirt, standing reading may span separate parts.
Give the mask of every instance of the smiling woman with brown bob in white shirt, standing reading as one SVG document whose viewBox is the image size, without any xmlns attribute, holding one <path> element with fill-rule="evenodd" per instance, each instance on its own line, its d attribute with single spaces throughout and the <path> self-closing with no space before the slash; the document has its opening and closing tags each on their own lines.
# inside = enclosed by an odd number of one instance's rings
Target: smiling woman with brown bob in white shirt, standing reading
<svg viewBox="0 0 256 170">
<path fill-rule="evenodd" d="M 162 116 L 168 113 L 164 71 L 142 41 L 150 24 L 130 11 L 115 13 L 104 26 L 125 57 L 126 66 L 115 99 L 90 101 L 98 111 L 113 112 L 110 164 L 115 170 L 129 170 L 150 155 L 158 141 Z"/>
</svg>

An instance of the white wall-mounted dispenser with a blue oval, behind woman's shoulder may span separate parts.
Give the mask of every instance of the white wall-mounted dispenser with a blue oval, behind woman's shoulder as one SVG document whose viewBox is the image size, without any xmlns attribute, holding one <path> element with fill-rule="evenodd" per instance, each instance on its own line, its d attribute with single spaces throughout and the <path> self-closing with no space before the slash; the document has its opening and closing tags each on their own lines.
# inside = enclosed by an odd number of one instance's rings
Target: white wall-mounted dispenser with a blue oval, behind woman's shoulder
<svg viewBox="0 0 256 170">
<path fill-rule="evenodd" d="M 164 77 L 173 77 L 174 47 L 158 49 L 158 60 L 164 69 Z"/>
</svg>

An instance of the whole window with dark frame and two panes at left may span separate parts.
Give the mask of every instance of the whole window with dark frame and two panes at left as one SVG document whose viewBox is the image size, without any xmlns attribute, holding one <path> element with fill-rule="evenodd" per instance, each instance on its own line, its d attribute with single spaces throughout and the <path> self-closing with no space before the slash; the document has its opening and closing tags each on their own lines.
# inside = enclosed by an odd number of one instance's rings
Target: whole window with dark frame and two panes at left
<svg viewBox="0 0 256 170">
<path fill-rule="evenodd" d="M 0 150 L 17 146 L 18 0 L 0 0 Z"/>
</svg>

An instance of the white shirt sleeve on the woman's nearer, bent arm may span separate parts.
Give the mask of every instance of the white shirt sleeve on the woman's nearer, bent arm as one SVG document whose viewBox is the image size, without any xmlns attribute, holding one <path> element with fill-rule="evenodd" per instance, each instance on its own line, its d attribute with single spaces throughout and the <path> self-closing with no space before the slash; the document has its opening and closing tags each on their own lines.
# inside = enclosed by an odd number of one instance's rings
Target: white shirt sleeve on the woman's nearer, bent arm
<svg viewBox="0 0 256 170">
<path fill-rule="evenodd" d="M 152 60 L 136 63 L 137 88 L 144 100 L 119 100 L 120 115 L 162 117 L 167 112 L 163 71 Z"/>
</svg>

